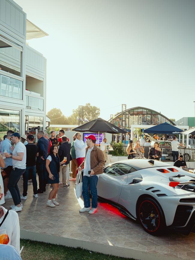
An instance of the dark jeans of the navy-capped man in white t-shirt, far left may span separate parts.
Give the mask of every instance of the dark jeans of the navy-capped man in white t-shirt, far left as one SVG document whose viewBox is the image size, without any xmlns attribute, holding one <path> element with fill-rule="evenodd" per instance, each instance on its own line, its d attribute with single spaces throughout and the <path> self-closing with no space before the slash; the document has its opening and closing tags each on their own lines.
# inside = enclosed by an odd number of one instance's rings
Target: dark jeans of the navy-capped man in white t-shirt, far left
<svg viewBox="0 0 195 260">
<path fill-rule="evenodd" d="M 8 181 L 8 189 L 11 193 L 11 196 L 13 198 L 14 205 L 18 205 L 21 202 L 20 193 L 18 189 L 18 181 L 21 175 L 25 172 L 25 169 L 18 169 L 13 168 L 13 170 L 10 173 L 9 181 Z"/>
</svg>

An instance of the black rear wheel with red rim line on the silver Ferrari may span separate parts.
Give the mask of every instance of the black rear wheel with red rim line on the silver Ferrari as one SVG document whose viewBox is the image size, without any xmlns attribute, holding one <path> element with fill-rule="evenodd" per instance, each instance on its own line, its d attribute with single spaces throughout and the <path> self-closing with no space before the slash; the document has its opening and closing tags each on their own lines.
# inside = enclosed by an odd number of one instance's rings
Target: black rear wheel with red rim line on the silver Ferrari
<svg viewBox="0 0 195 260">
<path fill-rule="evenodd" d="M 164 213 L 152 198 L 142 198 L 137 204 L 137 216 L 143 229 L 151 235 L 159 235 L 165 231 Z"/>
</svg>

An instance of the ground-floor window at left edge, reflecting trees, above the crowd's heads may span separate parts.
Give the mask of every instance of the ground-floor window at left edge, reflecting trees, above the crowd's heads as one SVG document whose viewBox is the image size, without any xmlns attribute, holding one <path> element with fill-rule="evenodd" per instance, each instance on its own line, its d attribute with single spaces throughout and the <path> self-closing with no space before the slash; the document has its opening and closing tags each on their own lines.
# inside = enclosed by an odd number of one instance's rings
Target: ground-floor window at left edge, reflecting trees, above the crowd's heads
<svg viewBox="0 0 195 260">
<path fill-rule="evenodd" d="M 19 132 L 19 111 L 0 109 L 0 137 L 7 134 L 8 130 Z"/>
</svg>

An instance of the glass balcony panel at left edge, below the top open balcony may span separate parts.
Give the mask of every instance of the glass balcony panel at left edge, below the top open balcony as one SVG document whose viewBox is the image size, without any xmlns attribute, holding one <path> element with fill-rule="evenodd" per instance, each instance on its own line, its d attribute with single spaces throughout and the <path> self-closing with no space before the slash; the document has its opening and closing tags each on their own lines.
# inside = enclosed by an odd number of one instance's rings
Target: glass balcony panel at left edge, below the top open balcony
<svg viewBox="0 0 195 260">
<path fill-rule="evenodd" d="M 0 95 L 22 99 L 23 82 L 0 74 Z"/>
</svg>

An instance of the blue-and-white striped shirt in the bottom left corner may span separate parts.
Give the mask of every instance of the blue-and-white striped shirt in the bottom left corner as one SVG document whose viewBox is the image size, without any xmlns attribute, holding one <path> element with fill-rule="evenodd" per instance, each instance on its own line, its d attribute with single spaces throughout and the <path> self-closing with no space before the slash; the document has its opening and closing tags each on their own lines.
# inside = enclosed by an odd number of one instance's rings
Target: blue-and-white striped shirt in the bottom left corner
<svg viewBox="0 0 195 260">
<path fill-rule="evenodd" d="M 1 260 L 22 260 L 20 254 L 11 245 L 0 244 L 0 259 Z"/>
</svg>

